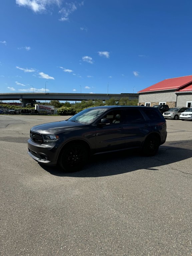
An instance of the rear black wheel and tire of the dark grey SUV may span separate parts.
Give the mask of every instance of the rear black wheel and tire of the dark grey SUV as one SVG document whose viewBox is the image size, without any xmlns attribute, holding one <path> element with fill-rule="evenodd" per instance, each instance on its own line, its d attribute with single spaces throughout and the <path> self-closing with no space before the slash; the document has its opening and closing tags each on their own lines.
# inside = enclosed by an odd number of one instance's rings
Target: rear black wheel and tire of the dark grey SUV
<svg viewBox="0 0 192 256">
<path fill-rule="evenodd" d="M 144 156 L 154 156 L 157 154 L 159 146 L 160 143 L 158 137 L 149 135 L 143 143 L 142 154 Z"/>
</svg>

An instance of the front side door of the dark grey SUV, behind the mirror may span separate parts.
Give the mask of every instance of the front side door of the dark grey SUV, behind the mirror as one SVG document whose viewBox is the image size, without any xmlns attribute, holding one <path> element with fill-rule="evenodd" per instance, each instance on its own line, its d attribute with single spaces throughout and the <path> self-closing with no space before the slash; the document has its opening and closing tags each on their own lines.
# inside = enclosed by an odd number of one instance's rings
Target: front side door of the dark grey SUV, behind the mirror
<svg viewBox="0 0 192 256">
<path fill-rule="evenodd" d="M 96 151 L 111 151 L 124 148 L 123 111 L 121 109 L 111 110 L 102 118 L 108 119 L 110 124 L 98 124 L 95 134 Z M 98 123 L 101 123 L 101 119 Z"/>
</svg>

